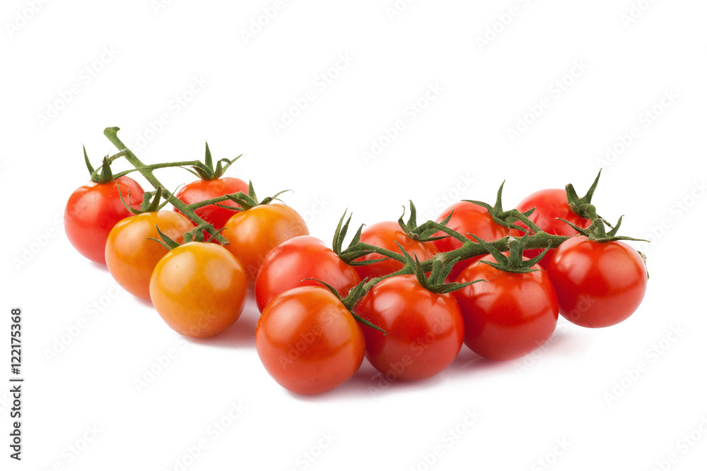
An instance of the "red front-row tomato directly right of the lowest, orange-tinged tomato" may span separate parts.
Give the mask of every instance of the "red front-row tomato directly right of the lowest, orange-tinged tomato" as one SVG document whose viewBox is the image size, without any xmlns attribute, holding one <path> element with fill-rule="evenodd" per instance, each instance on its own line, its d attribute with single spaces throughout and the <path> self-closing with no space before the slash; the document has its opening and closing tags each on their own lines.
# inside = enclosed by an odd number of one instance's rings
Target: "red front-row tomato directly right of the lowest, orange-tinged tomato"
<svg viewBox="0 0 707 471">
<path fill-rule="evenodd" d="M 375 285 L 356 311 L 387 332 L 363 326 L 366 358 L 386 378 L 415 381 L 435 376 L 457 357 L 464 320 L 452 294 L 423 288 L 414 275 Z"/>
</svg>

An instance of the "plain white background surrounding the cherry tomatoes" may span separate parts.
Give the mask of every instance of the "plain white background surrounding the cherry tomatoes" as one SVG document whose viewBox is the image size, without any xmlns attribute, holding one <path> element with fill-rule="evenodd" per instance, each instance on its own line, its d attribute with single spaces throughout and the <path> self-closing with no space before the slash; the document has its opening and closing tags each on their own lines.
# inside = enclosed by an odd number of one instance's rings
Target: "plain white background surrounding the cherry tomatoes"
<svg viewBox="0 0 707 471">
<path fill-rule="evenodd" d="M 3 2 L 0 332 L 20 306 L 26 380 L 21 463 L 0 388 L 2 469 L 703 469 L 707 4 L 398 4 L 284 1 L 273 15 L 274 0 Z M 493 200 L 504 179 L 510 208 L 569 182 L 583 193 L 604 167 L 600 214 L 654 241 L 634 244 L 648 292 L 619 326 L 561 319 L 522 361 L 463 347 L 421 383 L 377 388 L 364 362 L 332 393 L 293 395 L 258 361 L 254 302 L 220 337 L 185 340 L 72 249 L 62 213 L 87 180 L 81 144 L 95 163 L 113 153 L 107 126 L 145 162 L 201 158 L 205 140 L 216 159 L 244 153 L 229 174 L 260 196 L 293 189 L 286 203 L 327 241 L 346 208 L 357 225 L 397 219 L 409 199 L 436 217 Z"/>
</svg>

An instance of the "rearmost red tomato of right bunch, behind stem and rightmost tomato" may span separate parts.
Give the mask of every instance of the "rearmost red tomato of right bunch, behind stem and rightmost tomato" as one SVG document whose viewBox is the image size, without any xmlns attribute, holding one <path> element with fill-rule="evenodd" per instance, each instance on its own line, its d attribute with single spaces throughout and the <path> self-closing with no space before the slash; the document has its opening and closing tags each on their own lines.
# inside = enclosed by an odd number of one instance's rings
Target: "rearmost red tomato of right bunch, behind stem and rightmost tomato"
<svg viewBox="0 0 707 471">
<path fill-rule="evenodd" d="M 573 225 L 582 227 L 583 229 L 592 224 L 592 220 L 585 219 L 584 217 L 581 217 L 573 212 L 570 205 L 567 203 L 567 192 L 565 190 L 547 189 L 536 191 L 516 206 L 516 209 L 518 209 L 521 213 L 525 213 L 525 211 L 530 210 L 531 208 L 535 208 L 535 210 L 530 216 L 528 216 L 528 219 L 537 224 L 540 229 L 544 230 L 548 234 L 564 236 L 579 234 L 579 232 L 575 231 L 575 229 L 573 229 L 566 222 L 555 219 L 556 217 L 569 221 Z M 528 229 L 528 227 L 522 222 L 517 222 L 516 224 L 526 230 Z M 522 236 L 522 234 L 524 234 L 524 232 L 520 232 L 515 229 L 513 230 L 513 235 Z M 531 249 L 525 251 L 524 255 L 530 258 L 535 258 L 542 251 L 543 249 Z M 550 249 L 539 261 L 539 265 L 542 266 L 542 268 L 547 270 L 547 264 L 549 263 L 553 252 L 554 249 Z"/>
</svg>

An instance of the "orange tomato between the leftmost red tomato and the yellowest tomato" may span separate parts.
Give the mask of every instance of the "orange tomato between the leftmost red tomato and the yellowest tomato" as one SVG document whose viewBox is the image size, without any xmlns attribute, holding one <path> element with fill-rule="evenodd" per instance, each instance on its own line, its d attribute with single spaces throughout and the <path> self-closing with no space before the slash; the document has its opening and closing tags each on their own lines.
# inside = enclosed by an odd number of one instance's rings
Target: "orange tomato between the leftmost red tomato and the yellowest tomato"
<svg viewBox="0 0 707 471">
<path fill-rule="evenodd" d="M 118 222 L 105 243 L 105 264 L 124 290 L 134 296 L 150 299 L 150 278 L 160 258 L 168 253 L 156 227 L 178 244 L 184 233 L 194 228 L 186 216 L 172 211 L 156 211 L 126 217 Z"/>
</svg>

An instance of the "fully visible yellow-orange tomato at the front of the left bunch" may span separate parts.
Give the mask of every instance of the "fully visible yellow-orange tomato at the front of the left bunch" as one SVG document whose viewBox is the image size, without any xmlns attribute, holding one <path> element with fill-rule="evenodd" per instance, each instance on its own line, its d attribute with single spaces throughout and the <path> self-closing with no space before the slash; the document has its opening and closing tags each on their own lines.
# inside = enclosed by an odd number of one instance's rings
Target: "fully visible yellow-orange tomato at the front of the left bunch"
<svg viewBox="0 0 707 471">
<path fill-rule="evenodd" d="M 187 337 L 213 337 L 238 320 L 247 293 L 243 266 L 218 244 L 189 242 L 158 261 L 150 297 L 168 326 Z"/>
</svg>

